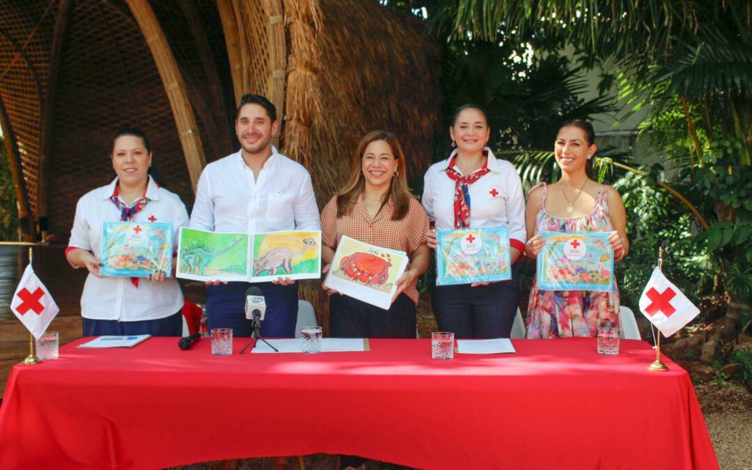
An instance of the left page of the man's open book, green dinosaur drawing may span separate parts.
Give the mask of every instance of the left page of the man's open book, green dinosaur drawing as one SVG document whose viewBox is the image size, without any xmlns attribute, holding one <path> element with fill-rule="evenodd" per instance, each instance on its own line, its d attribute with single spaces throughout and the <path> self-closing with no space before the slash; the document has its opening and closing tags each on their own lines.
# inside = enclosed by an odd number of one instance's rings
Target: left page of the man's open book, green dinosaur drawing
<svg viewBox="0 0 752 470">
<path fill-rule="evenodd" d="M 194 280 L 245 280 L 248 235 L 180 229 L 177 277 Z"/>
</svg>

